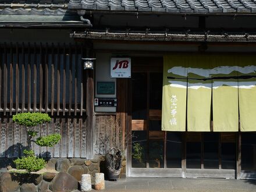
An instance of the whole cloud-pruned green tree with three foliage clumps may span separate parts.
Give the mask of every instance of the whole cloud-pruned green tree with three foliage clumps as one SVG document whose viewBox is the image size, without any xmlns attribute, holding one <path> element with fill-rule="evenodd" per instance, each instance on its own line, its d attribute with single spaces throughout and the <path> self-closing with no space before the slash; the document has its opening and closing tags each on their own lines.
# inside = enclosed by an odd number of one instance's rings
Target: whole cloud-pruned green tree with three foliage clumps
<svg viewBox="0 0 256 192">
<path fill-rule="evenodd" d="M 41 125 L 42 123 L 47 123 L 51 121 L 51 118 L 46 113 L 18 113 L 13 115 L 13 122 L 26 127 L 27 135 L 27 148 L 24 150 L 24 157 L 17 158 L 13 161 L 17 169 L 26 169 L 29 172 L 37 171 L 45 166 L 45 160 L 36 157 L 34 151 L 31 148 L 31 142 L 40 145 L 41 147 L 53 147 L 55 144 L 61 140 L 60 134 L 50 134 L 45 137 L 38 137 L 37 140 L 33 140 L 33 137 L 37 136 L 38 132 L 34 130 L 34 126 Z"/>
</svg>

